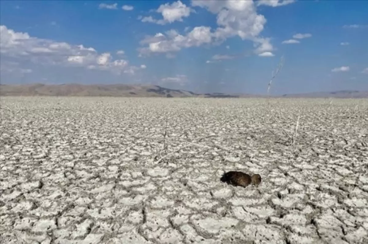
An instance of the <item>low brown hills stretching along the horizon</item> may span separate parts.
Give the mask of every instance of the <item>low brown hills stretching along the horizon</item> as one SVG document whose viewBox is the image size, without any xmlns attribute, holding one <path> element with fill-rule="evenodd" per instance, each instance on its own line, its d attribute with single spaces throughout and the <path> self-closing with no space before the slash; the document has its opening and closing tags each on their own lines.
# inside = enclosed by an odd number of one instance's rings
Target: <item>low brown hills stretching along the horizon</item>
<svg viewBox="0 0 368 244">
<path fill-rule="evenodd" d="M 199 94 L 185 90 L 174 90 L 158 85 L 83 85 L 83 84 L 22 84 L 0 85 L 1 96 L 124 96 L 124 97 L 205 97 L 205 98 L 239 98 L 266 97 L 255 94 L 225 94 L 220 92 Z M 302 94 L 284 94 L 273 97 L 287 98 L 368 98 L 368 91 L 334 91 L 311 92 Z"/>
</svg>

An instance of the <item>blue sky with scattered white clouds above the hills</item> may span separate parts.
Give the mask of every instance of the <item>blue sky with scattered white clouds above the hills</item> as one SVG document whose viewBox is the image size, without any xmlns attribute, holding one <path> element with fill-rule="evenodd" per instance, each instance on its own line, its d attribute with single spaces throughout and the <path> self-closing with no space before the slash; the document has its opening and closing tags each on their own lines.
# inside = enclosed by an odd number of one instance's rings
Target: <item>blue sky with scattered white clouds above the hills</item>
<svg viewBox="0 0 368 244">
<path fill-rule="evenodd" d="M 1 83 L 368 90 L 368 1 L 0 1 Z"/>
</svg>

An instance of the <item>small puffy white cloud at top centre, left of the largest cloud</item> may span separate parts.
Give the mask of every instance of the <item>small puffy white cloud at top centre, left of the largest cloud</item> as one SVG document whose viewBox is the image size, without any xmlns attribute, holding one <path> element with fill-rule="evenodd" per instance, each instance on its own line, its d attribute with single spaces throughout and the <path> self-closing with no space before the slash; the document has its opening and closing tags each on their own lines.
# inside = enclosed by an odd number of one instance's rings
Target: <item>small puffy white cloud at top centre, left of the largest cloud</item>
<svg viewBox="0 0 368 244">
<path fill-rule="evenodd" d="M 159 25 L 166 25 L 175 21 L 183 21 L 183 17 L 188 17 L 191 13 L 191 8 L 187 7 L 180 0 L 172 4 L 165 3 L 160 5 L 156 12 L 161 13 L 163 19 L 155 19 L 152 16 L 144 17 L 142 22 L 152 22 Z"/>
</svg>

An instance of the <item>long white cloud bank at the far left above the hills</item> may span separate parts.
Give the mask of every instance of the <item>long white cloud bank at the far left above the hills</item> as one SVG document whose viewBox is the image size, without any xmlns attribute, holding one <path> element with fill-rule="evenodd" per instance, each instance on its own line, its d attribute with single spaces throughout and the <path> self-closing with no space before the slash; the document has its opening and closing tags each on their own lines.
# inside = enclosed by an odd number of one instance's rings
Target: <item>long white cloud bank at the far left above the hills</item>
<svg viewBox="0 0 368 244">
<path fill-rule="evenodd" d="M 4 25 L 0 26 L 0 36 L 1 58 L 30 61 L 42 65 L 79 66 L 115 73 L 139 69 L 130 66 L 127 60 L 113 60 L 109 52 L 98 54 L 92 47 L 31 37 L 28 33 L 15 32 Z"/>
</svg>

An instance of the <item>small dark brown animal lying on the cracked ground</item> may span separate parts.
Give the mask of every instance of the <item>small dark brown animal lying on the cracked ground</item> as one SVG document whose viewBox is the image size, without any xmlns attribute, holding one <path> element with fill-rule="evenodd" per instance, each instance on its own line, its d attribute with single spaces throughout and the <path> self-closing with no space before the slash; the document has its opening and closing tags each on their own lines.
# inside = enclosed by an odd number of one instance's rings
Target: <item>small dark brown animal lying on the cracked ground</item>
<svg viewBox="0 0 368 244">
<path fill-rule="evenodd" d="M 241 171 L 229 171 L 222 175 L 220 181 L 234 186 L 247 187 L 250 183 L 259 185 L 259 183 L 261 183 L 261 175 L 255 174 L 251 177 Z"/>
</svg>

